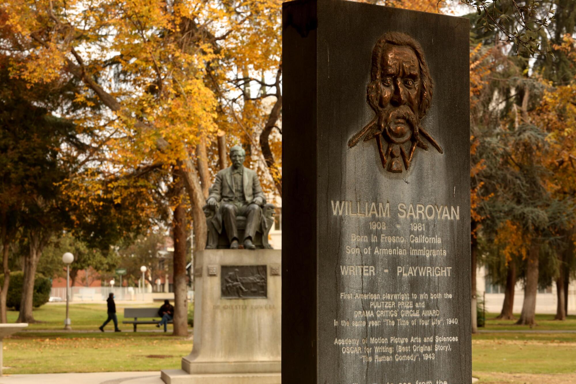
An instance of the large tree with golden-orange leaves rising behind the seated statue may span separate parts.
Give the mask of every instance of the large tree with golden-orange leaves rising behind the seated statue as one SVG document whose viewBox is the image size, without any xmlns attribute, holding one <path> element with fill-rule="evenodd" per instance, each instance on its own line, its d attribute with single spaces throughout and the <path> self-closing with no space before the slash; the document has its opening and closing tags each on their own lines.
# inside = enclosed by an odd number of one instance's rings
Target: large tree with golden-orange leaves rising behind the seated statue
<svg viewBox="0 0 576 384">
<path fill-rule="evenodd" d="M 135 176 L 168 172 L 183 182 L 195 248 L 202 250 L 202 208 L 211 183 L 205 172 L 211 151 L 204 146 L 216 140 L 219 121 L 235 140 L 260 139 L 253 152 L 279 191 L 281 163 L 272 130 L 282 105 L 280 4 L 3 3 L 0 49 L 12 58 L 12 76 L 31 85 L 71 78 L 80 84 L 73 103 L 58 111 L 92 147 L 81 155 L 81 179 L 62 185 L 71 197 L 82 202 L 109 192 L 119 202 L 119 191 L 130 190 Z M 239 92 L 251 82 L 264 92 Z M 247 132 L 238 130 L 247 121 Z M 65 150 L 75 155 L 73 148 Z"/>
</svg>

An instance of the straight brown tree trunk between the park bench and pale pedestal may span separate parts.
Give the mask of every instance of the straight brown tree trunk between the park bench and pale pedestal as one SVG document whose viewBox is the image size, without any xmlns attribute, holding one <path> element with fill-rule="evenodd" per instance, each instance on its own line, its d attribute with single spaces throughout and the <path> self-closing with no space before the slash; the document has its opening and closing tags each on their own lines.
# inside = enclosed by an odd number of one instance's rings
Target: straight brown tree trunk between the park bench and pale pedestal
<svg viewBox="0 0 576 384">
<path fill-rule="evenodd" d="M 179 204 L 174 209 L 174 336 L 188 336 L 188 301 L 186 287 L 186 211 Z"/>
</svg>

